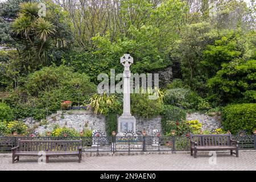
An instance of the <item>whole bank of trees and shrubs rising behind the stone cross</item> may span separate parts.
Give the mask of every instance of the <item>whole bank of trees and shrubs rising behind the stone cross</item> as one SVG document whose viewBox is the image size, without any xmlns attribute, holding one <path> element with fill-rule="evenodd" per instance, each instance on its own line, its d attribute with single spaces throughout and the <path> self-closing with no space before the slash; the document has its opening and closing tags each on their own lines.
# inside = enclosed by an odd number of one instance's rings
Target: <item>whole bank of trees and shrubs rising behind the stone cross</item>
<svg viewBox="0 0 256 182">
<path fill-rule="evenodd" d="M 0 120 L 42 119 L 63 101 L 114 118 L 122 96 L 96 94 L 97 77 L 122 73 L 124 53 L 134 57 L 132 73 L 172 67 L 174 81 L 161 85 L 164 97 L 131 94 L 131 113 L 162 115 L 164 133 L 168 121 L 185 122 L 187 110 L 253 104 L 255 15 L 255 2 L 242 0 L 0 2 Z M 110 120 L 108 134 L 116 127 Z"/>
</svg>

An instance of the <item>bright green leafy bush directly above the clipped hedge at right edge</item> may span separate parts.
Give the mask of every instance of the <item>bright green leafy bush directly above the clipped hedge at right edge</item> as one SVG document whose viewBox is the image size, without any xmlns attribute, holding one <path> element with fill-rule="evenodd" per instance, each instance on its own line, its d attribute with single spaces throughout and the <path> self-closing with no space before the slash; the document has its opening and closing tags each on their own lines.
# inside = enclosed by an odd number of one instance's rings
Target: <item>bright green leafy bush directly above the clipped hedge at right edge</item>
<svg viewBox="0 0 256 182">
<path fill-rule="evenodd" d="M 212 97 L 225 102 L 256 102 L 256 60 L 236 59 L 222 64 L 208 85 L 214 90 Z"/>
</svg>

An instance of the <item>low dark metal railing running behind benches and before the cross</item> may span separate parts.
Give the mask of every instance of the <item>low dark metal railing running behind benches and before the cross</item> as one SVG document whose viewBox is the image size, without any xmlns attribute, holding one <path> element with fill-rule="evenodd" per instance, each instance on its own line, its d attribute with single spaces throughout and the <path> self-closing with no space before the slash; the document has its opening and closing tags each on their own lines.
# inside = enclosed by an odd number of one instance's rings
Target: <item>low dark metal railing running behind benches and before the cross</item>
<svg viewBox="0 0 256 182">
<path fill-rule="evenodd" d="M 256 150 L 256 135 L 234 135 L 240 150 Z M 18 140 L 82 140 L 83 152 L 164 152 L 189 151 L 186 136 L 160 137 L 0 137 L 0 152 L 10 152 Z"/>
</svg>

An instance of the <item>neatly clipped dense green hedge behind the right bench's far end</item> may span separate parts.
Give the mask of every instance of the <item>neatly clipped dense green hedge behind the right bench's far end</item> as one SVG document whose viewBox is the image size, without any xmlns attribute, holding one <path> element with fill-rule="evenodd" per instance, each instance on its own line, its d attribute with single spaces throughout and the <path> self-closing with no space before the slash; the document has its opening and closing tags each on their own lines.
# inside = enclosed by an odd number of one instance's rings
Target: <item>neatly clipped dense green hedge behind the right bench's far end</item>
<svg viewBox="0 0 256 182">
<path fill-rule="evenodd" d="M 246 130 L 249 134 L 256 128 L 256 104 L 236 104 L 224 107 L 222 126 L 232 134 Z"/>
</svg>

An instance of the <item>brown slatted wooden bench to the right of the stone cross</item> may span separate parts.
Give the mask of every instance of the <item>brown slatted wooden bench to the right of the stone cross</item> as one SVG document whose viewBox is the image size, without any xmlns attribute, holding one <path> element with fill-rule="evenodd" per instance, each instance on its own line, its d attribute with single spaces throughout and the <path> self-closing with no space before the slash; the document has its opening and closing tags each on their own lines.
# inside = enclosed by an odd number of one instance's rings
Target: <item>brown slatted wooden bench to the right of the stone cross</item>
<svg viewBox="0 0 256 182">
<path fill-rule="evenodd" d="M 239 142 L 232 140 L 231 134 L 222 135 L 195 135 L 190 134 L 191 156 L 196 158 L 197 151 L 230 150 L 230 155 L 236 154 L 238 158 Z M 236 150 L 236 153 L 233 152 Z"/>
</svg>

